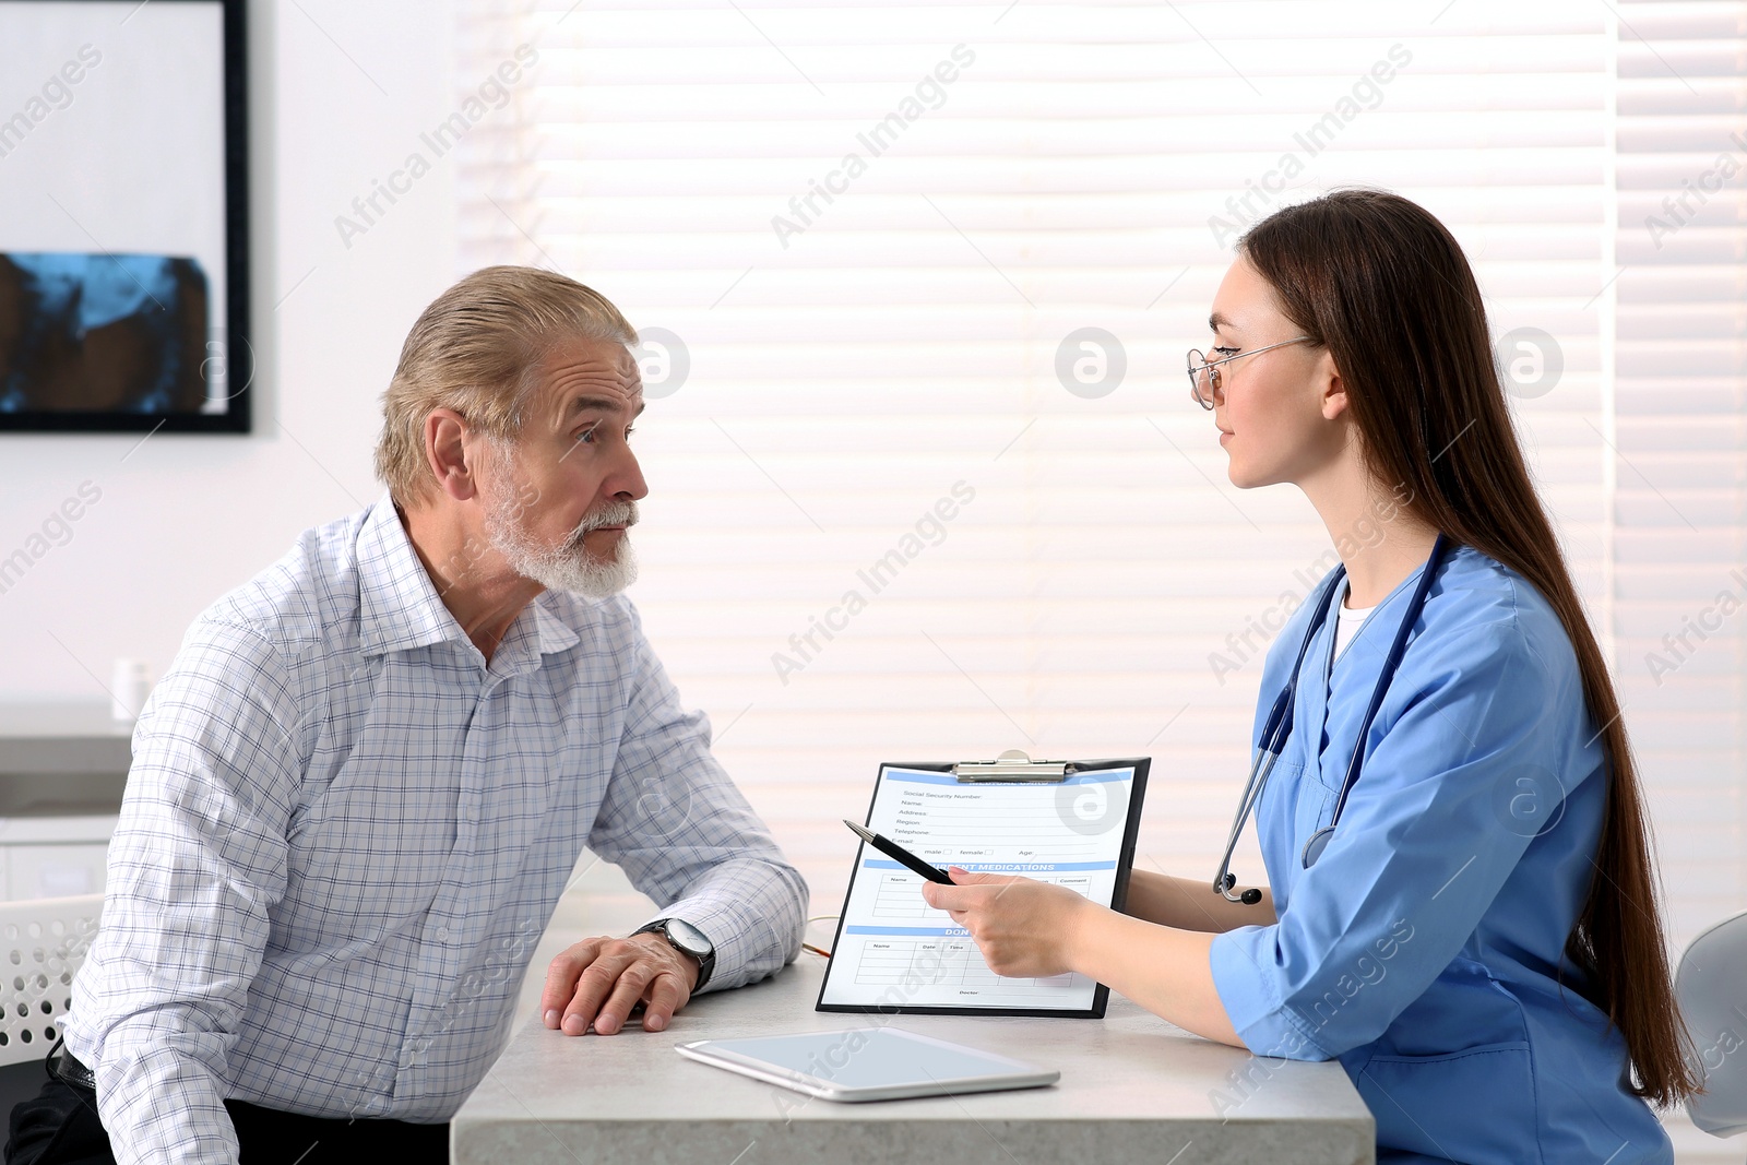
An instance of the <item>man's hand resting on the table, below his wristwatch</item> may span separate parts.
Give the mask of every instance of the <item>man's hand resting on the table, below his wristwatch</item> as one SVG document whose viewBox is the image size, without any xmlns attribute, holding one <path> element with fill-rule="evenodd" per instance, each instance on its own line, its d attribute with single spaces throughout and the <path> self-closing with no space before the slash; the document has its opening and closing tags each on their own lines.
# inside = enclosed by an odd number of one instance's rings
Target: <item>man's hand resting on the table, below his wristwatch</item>
<svg viewBox="0 0 1747 1165">
<path fill-rule="evenodd" d="M 659 1032 L 687 1004 L 695 985 L 697 959 L 680 954 L 660 934 L 603 934 L 582 940 L 552 961 L 540 1013 L 547 1027 L 566 1036 L 582 1036 L 590 1022 L 596 1034 L 611 1036 L 641 1001 L 643 1029 Z"/>
</svg>

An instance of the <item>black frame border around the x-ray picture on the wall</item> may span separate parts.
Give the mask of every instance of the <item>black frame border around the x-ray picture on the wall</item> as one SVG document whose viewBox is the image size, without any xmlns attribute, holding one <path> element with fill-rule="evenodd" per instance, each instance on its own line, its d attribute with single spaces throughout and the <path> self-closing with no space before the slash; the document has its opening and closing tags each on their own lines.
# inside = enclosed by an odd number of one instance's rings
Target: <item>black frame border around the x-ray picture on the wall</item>
<svg viewBox="0 0 1747 1165">
<path fill-rule="evenodd" d="M 84 5 L 105 0 L 9 0 L 10 3 Z M 203 360 L 222 360 L 224 412 L 0 410 L 0 433 L 248 433 L 253 423 L 255 349 L 250 325 L 248 201 L 248 26 L 246 0 L 150 0 L 154 7 L 208 5 L 222 12 L 217 45 L 224 77 L 224 335 L 208 341 Z M 145 9 L 140 3 L 138 9 Z M 135 10 L 138 10 L 135 9 Z M 3 250 L 3 246 L 0 246 Z"/>
</svg>

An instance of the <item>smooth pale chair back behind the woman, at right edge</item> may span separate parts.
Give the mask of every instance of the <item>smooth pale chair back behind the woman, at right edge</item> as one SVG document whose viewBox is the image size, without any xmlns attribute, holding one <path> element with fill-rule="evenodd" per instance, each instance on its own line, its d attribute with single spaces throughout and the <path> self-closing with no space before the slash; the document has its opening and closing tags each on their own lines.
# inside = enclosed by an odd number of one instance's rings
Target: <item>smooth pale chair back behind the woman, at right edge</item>
<svg viewBox="0 0 1747 1165">
<path fill-rule="evenodd" d="M 1674 994 L 1705 1072 L 1688 1114 L 1714 1137 L 1747 1132 L 1747 913 L 1691 941 Z"/>
</svg>

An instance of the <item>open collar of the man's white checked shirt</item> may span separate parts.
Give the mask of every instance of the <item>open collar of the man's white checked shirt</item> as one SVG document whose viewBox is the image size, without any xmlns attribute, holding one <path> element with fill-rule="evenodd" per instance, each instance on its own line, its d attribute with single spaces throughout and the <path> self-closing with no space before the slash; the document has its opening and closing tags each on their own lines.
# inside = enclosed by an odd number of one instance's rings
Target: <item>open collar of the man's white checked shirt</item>
<svg viewBox="0 0 1747 1165">
<path fill-rule="evenodd" d="M 461 624 L 438 597 L 388 493 L 370 507 L 363 529 L 358 531 L 358 601 L 365 655 L 449 641 L 472 646 Z M 578 641 L 577 629 L 554 610 L 554 603 L 550 592 L 529 603 L 533 639 L 542 655 L 564 651 Z M 514 646 L 526 639 L 528 624 L 529 615 L 522 611 L 510 625 L 503 648 L 512 648 L 512 655 Z"/>
</svg>

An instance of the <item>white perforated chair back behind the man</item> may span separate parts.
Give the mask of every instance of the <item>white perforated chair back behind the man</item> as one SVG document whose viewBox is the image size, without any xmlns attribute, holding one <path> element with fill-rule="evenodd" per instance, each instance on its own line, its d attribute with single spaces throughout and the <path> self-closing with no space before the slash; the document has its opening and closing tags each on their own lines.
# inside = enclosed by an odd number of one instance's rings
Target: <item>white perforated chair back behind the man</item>
<svg viewBox="0 0 1747 1165">
<path fill-rule="evenodd" d="M 0 901 L 0 1065 L 49 1055 L 101 915 L 103 894 Z"/>
</svg>

